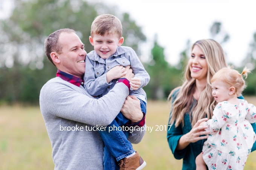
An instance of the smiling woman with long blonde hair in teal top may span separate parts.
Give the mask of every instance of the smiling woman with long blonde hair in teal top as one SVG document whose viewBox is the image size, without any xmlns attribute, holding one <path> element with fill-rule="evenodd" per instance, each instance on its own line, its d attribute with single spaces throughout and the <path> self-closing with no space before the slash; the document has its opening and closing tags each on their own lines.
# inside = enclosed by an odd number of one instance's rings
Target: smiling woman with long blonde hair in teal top
<svg viewBox="0 0 256 170">
<path fill-rule="evenodd" d="M 210 80 L 223 67 L 227 67 L 227 63 L 225 53 L 218 42 L 212 39 L 195 42 L 186 68 L 185 82 L 169 95 L 169 125 L 172 126 L 168 130 L 167 138 L 174 157 L 183 158 L 182 170 L 196 169 L 195 158 L 201 153 L 209 133 L 204 131 L 206 126 L 199 124 L 208 120 L 205 117 L 212 118 L 216 105 Z M 255 123 L 252 126 L 256 131 Z M 255 149 L 256 143 L 252 151 Z"/>
</svg>

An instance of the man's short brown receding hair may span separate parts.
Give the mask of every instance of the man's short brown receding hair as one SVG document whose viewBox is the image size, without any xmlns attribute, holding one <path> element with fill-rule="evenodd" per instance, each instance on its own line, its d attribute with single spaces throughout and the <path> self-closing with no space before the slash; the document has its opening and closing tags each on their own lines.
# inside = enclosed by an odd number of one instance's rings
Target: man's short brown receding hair
<svg viewBox="0 0 256 170">
<path fill-rule="evenodd" d="M 50 54 L 52 52 L 56 52 L 58 54 L 62 53 L 62 47 L 61 47 L 61 44 L 59 43 L 59 35 L 63 32 L 76 33 L 75 30 L 72 30 L 72 29 L 60 29 L 51 33 L 44 41 L 45 54 L 50 60 L 50 62 L 52 63 L 53 61 Z M 55 64 L 53 63 L 53 65 Z"/>
</svg>

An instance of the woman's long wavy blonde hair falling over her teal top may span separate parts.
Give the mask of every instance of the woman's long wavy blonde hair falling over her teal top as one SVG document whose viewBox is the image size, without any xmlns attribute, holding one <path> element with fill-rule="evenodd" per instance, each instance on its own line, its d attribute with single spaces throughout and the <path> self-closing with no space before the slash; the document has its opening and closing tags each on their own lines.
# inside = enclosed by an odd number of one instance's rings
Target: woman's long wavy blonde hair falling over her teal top
<svg viewBox="0 0 256 170">
<path fill-rule="evenodd" d="M 192 50 L 197 45 L 204 53 L 206 58 L 207 69 L 207 84 L 206 88 L 201 92 L 199 99 L 193 105 L 193 94 L 195 92 L 195 78 L 191 77 L 189 64 L 187 64 L 184 74 L 184 83 L 182 86 L 175 88 L 170 93 L 168 100 L 172 101 L 173 93 L 179 89 L 178 95 L 174 102 L 171 104 L 170 124 L 175 122 L 175 127 L 180 125 L 184 126 L 184 115 L 186 113 L 192 114 L 191 126 L 193 127 L 197 120 L 204 117 L 212 118 L 213 109 L 216 101 L 212 97 L 212 87 L 210 80 L 212 76 L 221 68 L 227 67 L 226 56 L 221 45 L 212 39 L 203 39 L 195 42 L 192 45 Z M 193 108 L 191 108 L 193 105 Z"/>
</svg>

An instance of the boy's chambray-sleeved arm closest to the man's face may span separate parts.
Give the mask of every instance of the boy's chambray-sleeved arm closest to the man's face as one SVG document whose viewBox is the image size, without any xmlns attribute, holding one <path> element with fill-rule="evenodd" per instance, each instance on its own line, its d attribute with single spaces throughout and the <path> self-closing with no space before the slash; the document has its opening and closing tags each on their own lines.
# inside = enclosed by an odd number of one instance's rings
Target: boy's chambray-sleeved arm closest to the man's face
<svg viewBox="0 0 256 170">
<path fill-rule="evenodd" d="M 108 86 L 112 83 L 107 83 L 106 73 L 95 78 L 94 62 L 86 56 L 85 58 L 85 74 L 84 88 L 91 96 L 98 96 L 104 93 Z"/>
</svg>

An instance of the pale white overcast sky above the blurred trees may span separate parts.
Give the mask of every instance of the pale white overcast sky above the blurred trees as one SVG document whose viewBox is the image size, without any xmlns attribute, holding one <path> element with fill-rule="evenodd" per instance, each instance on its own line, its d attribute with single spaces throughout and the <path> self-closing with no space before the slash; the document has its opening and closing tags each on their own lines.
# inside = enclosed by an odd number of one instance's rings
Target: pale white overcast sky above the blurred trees
<svg viewBox="0 0 256 170">
<path fill-rule="evenodd" d="M 92 0 L 91 0 L 92 1 Z M 239 66 L 246 56 L 256 32 L 256 0 L 93 0 L 116 5 L 119 12 L 128 12 L 142 27 L 148 39 L 143 46 L 145 58 L 150 55 L 154 35 L 165 48 L 166 59 L 175 65 L 179 54 L 191 43 L 210 37 L 213 22 L 222 23 L 230 35 L 223 48 L 229 62 Z M 0 0 L 0 18 L 8 16 L 12 0 Z"/>
</svg>

